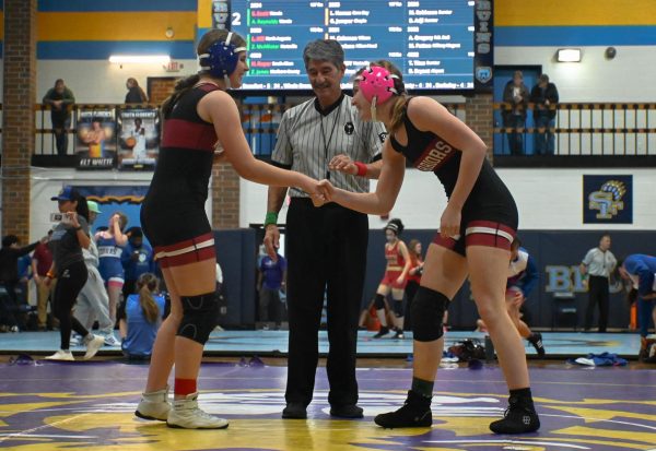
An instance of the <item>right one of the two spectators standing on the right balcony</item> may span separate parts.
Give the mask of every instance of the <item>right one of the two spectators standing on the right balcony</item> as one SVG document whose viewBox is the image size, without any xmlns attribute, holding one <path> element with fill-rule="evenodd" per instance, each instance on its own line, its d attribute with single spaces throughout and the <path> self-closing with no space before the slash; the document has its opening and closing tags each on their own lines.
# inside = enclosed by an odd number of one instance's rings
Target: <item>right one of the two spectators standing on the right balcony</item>
<svg viewBox="0 0 656 451">
<path fill-rule="evenodd" d="M 549 81 L 549 75 L 541 74 L 538 84 L 530 92 L 530 102 L 534 105 L 534 132 L 536 154 L 553 155 L 554 135 L 549 128 L 554 126 L 555 108 L 558 104 L 558 88 Z"/>
</svg>

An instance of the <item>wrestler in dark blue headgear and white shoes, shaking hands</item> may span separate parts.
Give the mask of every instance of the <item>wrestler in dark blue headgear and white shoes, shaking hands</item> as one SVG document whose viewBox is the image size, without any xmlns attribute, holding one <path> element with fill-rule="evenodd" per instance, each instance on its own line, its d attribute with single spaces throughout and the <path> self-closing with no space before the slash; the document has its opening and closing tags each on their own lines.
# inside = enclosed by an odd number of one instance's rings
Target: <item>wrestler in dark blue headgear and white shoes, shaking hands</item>
<svg viewBox="0 0 656 451">
<path fill-rule="evenodd" d="M 218 321 L 214 235 L 204 211 L 215 154 L 239 176 L 263 185 L 294 186 L 318 199 L 318 182 L 257 161 L 244 137 L 237 106 L 226 90 L 242 85 L 248 70 L 246 43 L 212 29 L 198 45 L 201 70 L 178 82 L 162 105 L 160 158 L 141 207 L 141 225 L 171 294 L 171 314 L 153 347 L 145 392 L 136 415 L 171 427 L 225 428 L 227 422 L 197 404 L 203 345 Z M 218 150 L 221 151 L 218 151 Z M 167 380 L 175 364 L 175 399 Z"/>
</svg>

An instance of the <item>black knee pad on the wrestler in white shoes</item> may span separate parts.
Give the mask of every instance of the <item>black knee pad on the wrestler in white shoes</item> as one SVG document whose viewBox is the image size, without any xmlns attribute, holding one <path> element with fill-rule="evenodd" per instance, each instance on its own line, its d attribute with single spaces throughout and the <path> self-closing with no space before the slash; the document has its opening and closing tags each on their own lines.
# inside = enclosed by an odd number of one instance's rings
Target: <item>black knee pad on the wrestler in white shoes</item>
<svg viewBox="0 0 656 451">
<path fill-rule="evenodd" d="M 216 293 L 183 296 L 183 320 L 177 334 L 204 345 L 219 320 Z"/>
</svg>

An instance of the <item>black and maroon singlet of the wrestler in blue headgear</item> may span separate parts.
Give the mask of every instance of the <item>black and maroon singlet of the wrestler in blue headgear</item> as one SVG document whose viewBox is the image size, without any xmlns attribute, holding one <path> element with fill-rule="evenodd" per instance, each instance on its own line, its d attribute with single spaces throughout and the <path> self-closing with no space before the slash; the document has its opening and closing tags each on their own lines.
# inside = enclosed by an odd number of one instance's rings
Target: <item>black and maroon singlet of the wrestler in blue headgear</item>
<svg viewBox="0 0 656 451">
<path fill-rule="evenodd" d="M 162 268 L 215 258 L 214 236 L 204 211 L 216 133 L 197 106 L 213 84 L 192 87 L 164 122 L 160 157 L 141 205 L 141 226 Z"/>
</svg>

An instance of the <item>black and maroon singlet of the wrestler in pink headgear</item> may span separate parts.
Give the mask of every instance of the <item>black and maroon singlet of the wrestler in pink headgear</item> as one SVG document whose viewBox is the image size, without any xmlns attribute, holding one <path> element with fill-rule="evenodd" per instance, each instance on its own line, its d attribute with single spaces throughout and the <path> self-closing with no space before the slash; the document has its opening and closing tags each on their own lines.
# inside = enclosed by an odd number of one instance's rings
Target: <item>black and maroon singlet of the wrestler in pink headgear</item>
<svg viewBox="0 0 656 451">
<path fill-rule="evenodd" d="M 401 145 L 390 135 L 393 149 L 403 154 L 419 170 L 433 171 L 444 186 L 447 198 L 450 198 L 458 180 L 462 151 L 431 131 L 418 130 L 408 118 L 407 107 L 403 124 L 408 144 Z M 450 238 L 442 238 L 437 234 L 433 242 L 461 256 L 465 256 L 466 247 L 472 245 L 509 250 L 517 223 L 517 205 L 513 195 L 485 158 L 462 206 L 460 234 Z"/>
</svg>

